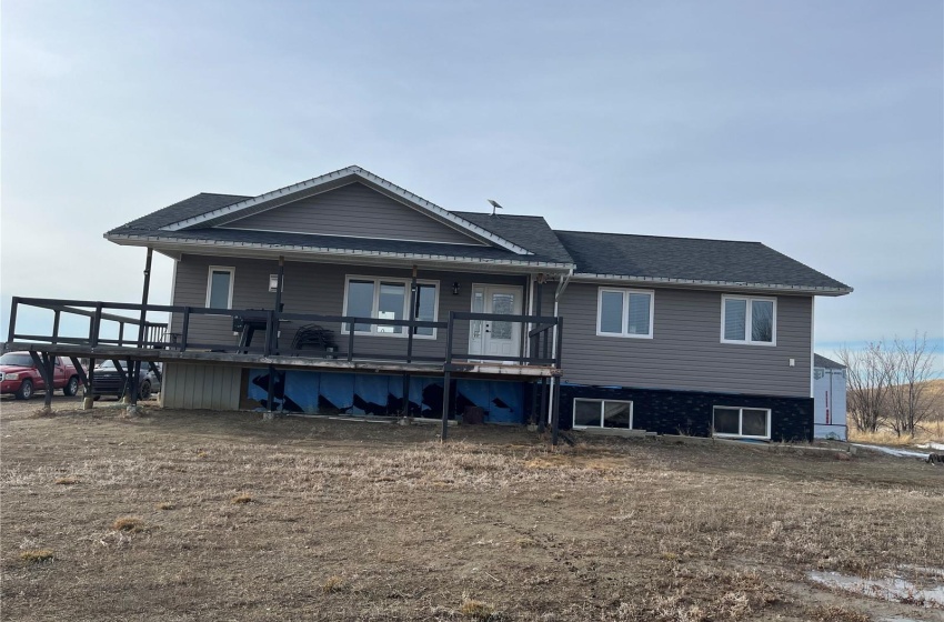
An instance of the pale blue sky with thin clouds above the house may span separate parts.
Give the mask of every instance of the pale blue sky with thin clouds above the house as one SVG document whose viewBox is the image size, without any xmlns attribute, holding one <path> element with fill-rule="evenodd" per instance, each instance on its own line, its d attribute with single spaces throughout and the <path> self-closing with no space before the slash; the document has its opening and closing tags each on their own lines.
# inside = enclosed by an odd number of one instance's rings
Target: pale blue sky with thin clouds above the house
<svg viewBox="0 0 944 622">
<path fill-rule="evenodd" d="M 940 347 L 942 6 L 4 0 L 2 330 L 14 294 L 140 300 L 111 228 L 360 164 L 448 209 L 761 241 L 855 288 L 817 299 L 825 353 Z"/>
</svg>

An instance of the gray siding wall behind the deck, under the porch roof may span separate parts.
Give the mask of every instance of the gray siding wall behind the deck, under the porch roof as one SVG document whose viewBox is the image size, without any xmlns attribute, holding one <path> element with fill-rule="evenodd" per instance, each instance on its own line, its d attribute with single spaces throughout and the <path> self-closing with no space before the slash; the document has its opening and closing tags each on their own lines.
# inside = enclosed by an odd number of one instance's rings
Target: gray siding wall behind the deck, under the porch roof
<svg viewBox="0 0 944 622">
<path fill-rule="evenodd" d="M 210 265 L 234 268 L 233 309 L 272 309 L 275 294 L 269 292 L 269 275 L 279 270 L 277 261 L 259 259 L 234 259 L 222 257 L 183 255 L 177 262 L 174 281 L 174 304 L 204 307 L 207 299 L 207 278 Z M 344 283 L 347 275 L 392 277 L 409 279 L 410 270 L 384 269 L 378 267 L 337 265 L 324 263 L 287 262 L 282 302 L 285 313 L 313 313 L 321 315 L 341 315 L 344 304 Z M 445 321 L 450 311 L 470 311 L 472 305 L 472 284 L 521 285 L 524 294 L 525 277 L 498 274 L 478 274 L 472 272 L 432 272 L 420 270 L 420 281 L 439 281 L 439 320 Z M 459 295 L 452 293 L 452 283 L 459 283 Z M 523 300 L 523 299 L 522 299 Z M 525 307 L 522 305 L 522 310 Z M 340 323 L 319 322 L 334 333 L 339 351 L 347 353 L 347 333 L 341 333 Z M 282 325 L 279 345 L 288 351 L 295 332 L 305 322 L 292 322 Z M 181 331 L 182 318 L 174 314 L 171 332 Z M 188 343 L 214 343 L 230 348 L 239 343 L 239 337 L 232 332 L 230 317 L 190 317 Z M 252 345 L 264 343 L 264 331 L 257 332 Z M 363 335 L 354 337 L 356 354 L 403 354 L 406 352 L 406 339 L 402 337 Z M 455 351 L 464 352 L 468 347 L 469 323 L 461 322 L 455 331 Z M 439 329 L 436 339 L 415 337 L 413 352 L 420 357 L 445 354 L 445 329 Z"/>
</svg>

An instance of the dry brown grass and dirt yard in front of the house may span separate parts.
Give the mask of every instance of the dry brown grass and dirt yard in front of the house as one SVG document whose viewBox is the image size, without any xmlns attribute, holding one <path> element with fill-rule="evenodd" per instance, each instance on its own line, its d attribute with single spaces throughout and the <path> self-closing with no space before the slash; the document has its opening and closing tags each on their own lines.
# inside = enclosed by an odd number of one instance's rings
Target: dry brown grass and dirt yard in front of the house
<svg viewBox="0 0 944 622">
<path fill-rule="evenodd" d="M 0 404 L 11 620 L 941 618 L 805 581 L 944 568 L 918 461 L 57 407 Z"/>
</svg>

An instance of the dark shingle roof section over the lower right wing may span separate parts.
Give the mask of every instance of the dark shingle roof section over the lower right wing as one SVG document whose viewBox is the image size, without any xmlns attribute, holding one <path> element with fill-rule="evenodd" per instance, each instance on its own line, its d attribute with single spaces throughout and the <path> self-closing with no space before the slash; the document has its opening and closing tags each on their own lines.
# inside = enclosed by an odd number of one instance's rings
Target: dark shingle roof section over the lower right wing
<svg viewBox="0 0 944 622">
<path fill-rule="evenodd" d="M 576 272 L 801 288 L 841 283 L 760 242 L 555 231 Z"/>
</svg>

